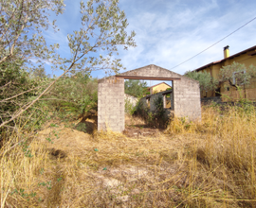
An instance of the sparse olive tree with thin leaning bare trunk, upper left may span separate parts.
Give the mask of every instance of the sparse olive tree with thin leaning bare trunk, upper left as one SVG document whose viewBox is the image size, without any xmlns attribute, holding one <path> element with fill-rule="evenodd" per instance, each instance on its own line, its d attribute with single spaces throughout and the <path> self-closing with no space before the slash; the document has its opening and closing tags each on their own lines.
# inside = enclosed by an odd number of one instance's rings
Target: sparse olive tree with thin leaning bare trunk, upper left
<svg viewBox="0 0 256 208">
<path fill-rule="evenodd" d="M 88 0 L 80 3 L 81 28 L 67 35 L 69 58 L 58 55 L 58 43 L 47 46 L 42 33 L 48 26 L 57 28 L 55 21 L 49 24 L 47 12 L 63 13 L 63 0 L 2 0 L 0 7 L 0 63 L 19 60 L 23 61 L 21 67 L 33 70 L 44 68 L 44 63 L 49 61 L 53 68 L 63 70 L 63 74 L 50 82 L 33 100 L 11 114 L 9 119 L 2 119 L 0 128 L 27 111 L 69 72 L 104 69 L 107 73 L 118 73 L 122 68 L 120 60 L 116 58 L 119 45 L 124 49 L 136 46 L 135 32 L 128 34 L 125 30 L 128 23 L 124 11 L 119 9 L 119 0 Z M 33 64 L 34 61 L 36 64 Z"/>
</svg>

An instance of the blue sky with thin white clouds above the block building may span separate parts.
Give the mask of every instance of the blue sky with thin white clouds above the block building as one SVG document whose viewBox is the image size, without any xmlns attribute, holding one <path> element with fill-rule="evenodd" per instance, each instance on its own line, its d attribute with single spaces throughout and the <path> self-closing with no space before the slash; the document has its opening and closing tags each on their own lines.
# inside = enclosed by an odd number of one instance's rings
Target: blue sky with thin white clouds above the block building
<svg viewBox="0 0 256 208">
<path fill-rule="evenodd" d="M 47 43 L 60 43 L 59 53 L 69 57 L 66 35 L 81 26 L 80 1 L 65 0 L 64 4 L 64 14 L 57 17 L 60 32 L 47 30 L 45 35 Z M 255 0 L 120 0 L 119 8 L 126 13 L 127 31 L 137 33 L 137 47 L 119 53 L 127 70 L 149 64 L 171 70 L 256 17 Z M 255 34 L 256 20 L 172 71 L 183 75 L 221 60 L 226 45 L 230 55 L 254 46 Z M 51 74 L 48 67 L 46 72 Z M 102 78 L 104 73 L 92 76 Z"/>
</svg>

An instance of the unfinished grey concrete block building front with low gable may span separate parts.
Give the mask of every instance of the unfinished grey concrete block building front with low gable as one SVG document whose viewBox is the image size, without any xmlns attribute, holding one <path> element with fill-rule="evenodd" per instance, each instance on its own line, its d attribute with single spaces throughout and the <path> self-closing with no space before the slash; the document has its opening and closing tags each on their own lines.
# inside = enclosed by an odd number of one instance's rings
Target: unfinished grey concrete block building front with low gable
<svg viewBox="0 0 256 208">
<path fill-rule="evenodd" d="M 151 64 L 98 81 L 98 130 L 124 130 L 124 79 L 172 80 L 174 116 L 201 119 L 198 81 Z"/>
</svg>

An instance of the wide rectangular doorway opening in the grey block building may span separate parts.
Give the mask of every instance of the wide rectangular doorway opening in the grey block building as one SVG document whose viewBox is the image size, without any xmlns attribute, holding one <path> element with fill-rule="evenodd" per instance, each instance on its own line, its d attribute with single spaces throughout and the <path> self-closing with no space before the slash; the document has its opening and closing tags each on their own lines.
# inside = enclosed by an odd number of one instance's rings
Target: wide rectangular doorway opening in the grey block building
<svg viewBox="0 0 256 208">
<path fill-rule="evenodd" d="M 174 115 L 173 80 L 125 79 L 124 92 L 126 132 L 165 129 Z M 131 103 L 130 96 L 137 102 Z"/>
</svg>

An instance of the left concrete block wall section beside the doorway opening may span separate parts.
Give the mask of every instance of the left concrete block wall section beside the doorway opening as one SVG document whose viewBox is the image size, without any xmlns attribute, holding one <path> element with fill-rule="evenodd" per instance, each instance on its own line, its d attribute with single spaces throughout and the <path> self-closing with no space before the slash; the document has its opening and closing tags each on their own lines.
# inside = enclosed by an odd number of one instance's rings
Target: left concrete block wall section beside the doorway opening
<svg viewBox="0 0 256 208">
<path fill-rule="evenodd" d="M 98 81 L 98 130 L 124 130 L 124 79 Z"/>
</svg>

